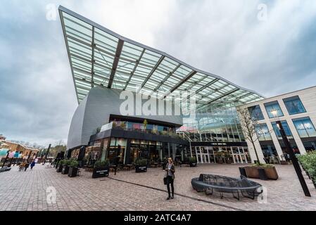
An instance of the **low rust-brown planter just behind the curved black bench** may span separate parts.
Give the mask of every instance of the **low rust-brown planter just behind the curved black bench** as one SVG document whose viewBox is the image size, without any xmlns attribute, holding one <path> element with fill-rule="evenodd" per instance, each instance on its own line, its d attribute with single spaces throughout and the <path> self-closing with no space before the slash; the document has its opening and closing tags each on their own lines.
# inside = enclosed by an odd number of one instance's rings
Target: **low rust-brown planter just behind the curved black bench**
<svg viewBox="0 0 316 225">
<path fill-rule="evenodd" d="M 249 178 L 260 178 L 259 169 L 264 169 L 267 179 L 277 180 L 279 175 L 277 174 L 277 169 L 274 165 L 270 164 L 254 164 L 248 167 L 245 167 L 247 177 Z"/>
</svg>

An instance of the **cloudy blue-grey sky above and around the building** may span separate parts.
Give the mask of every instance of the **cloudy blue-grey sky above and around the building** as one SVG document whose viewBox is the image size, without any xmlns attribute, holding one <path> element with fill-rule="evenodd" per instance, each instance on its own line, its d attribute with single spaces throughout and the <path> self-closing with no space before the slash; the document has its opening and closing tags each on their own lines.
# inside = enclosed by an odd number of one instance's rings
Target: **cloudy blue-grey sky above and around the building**
<svg viewBox="0 0 316 225">
<path fill-rule="evenodd" d="M 60 4 L 267 97 L 316 85 L 314 0 L 1 1 L 0 134 L 7 139 L 67 140 L 77 100 L 51 11 Z"/>
</svg>

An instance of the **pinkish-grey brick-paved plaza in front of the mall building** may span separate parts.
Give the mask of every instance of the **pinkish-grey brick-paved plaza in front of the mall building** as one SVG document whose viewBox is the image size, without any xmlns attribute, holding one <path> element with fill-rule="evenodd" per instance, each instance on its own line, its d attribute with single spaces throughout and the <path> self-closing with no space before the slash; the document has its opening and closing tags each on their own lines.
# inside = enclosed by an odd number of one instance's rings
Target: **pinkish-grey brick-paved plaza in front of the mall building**
<svg viewBox="0 0 316 225">
<path fill-rule="evenodd" d="M 312 198 L 305 197 L 292 165 L 277 165 L 277 181 L 253 179 L 267 188 L 267 203 L 236 200 L 229 194 L 220 199 L 191 188 L 191 178 L 201 173 L 238 177 L 238 167 L 176 167 L 175 199 L 167 201 L 164 172 L 159 168 L 140 174 L 111 172 L 108 178 L 92 179 L 91 172 L 70 178 L 43 165 L 26 172 L 18 172 L 15 166 L 0 173 L 0 210 L 316 210 L 315 187 L 305 176 Z M 56 190 L 56 203 L 47 197 L 51 187 Z"/>
</svg>

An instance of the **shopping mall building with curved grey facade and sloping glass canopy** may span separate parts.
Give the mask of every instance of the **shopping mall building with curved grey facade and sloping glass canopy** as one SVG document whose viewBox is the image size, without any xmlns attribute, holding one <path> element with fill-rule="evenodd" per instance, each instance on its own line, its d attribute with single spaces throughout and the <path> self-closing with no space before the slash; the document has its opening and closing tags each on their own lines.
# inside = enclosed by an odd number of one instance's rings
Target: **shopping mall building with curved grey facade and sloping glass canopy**
<svg viewBox="0 0 316 225">
<path fill-rule="evenodd" d="M 195 156 L 199 163 L 255 160 L 236 108 L 262 105 L 263 96 L 63 6 L 59 13 L 79 103 L 70 124 L 68 157 L 119 157 L 122 164 L 139 157 Z M 315 109 L 310 105 L 305 105 L 307 112 Z M 260 151 L 266 148 L 262 145 Z M 282 147 L 274 148 L 281 153 Z"/>
</svg>

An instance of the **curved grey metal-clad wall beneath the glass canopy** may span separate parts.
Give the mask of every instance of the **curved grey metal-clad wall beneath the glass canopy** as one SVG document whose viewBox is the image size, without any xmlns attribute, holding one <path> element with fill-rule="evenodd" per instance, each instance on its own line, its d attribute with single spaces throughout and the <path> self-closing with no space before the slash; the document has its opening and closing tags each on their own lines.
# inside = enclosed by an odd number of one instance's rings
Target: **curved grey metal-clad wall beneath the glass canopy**
<svg viewBox="0 0 316 225">
<path fill-rule="evenodd" d="M 98 127 L 108 123 L 110 115 L 121 115 L 120 105 L 126 101 L 120 99 L 121 92 L 121 90 L 100 87 L 94 87 L 89 91 L 89 94 L 82 100 L 72 117 L 68 134 L 68 149 L 88 145 L 90 136 L 96 134 Z M 174 124 L 176 127 L 182 126 L 182 116 L 175 115 L 174 110 L 172 115 L 158 115 L 158 108 L 156 108 L 156 115 L 137 116 L 135 112 L 137 110 L 141 111 L 141 107 L 146 101 L 146 99 L 143 99 L 141 105 L 137 105 L 134 95 L 134 113 L 132 117 Z M 172 104 L 172 108 L 175 107 L 177 106 Z"/>
</svg>

